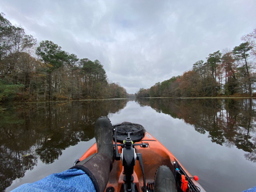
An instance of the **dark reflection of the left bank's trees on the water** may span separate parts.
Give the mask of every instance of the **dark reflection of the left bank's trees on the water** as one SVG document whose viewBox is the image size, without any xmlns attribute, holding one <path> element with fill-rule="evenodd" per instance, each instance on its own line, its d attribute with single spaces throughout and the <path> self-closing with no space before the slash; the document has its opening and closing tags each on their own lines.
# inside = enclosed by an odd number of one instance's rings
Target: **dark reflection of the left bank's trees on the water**
<svg viewBox="0 0 256 192">
<path fill-rule="evenodd" d="M 95 122 L 128 100 L 38 103 L 0 111 L 0 191 L 32 170 L 38 157 L 53 163 L 69 146 L 94 137 Z"/>
</svg>

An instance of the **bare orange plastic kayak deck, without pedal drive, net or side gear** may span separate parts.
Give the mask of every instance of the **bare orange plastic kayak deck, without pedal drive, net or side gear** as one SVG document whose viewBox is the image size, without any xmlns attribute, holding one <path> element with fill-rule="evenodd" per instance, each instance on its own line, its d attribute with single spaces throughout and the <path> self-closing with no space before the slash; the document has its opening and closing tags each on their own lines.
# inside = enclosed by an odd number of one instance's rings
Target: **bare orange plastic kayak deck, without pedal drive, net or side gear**
<svg viewBox="0 0 256 192">
<path fill-rule="evenodd" d="M 167 165 L 173 172 L 173 162 L 177 161 L 180 164 L 180 162 L 172 155 L 172 153 L 168 151 L 158 140 L 156 140 L 148 132 L 145 132 L 142 140 L 134 143 L 133 146 L 136 153 L 142 154 L 146 183 L 154 182 L 156 170 L 160 165 Z M 119 153 L 121 153 L 121 146 L 118 146 L 118 151 Z M 86 151 L 79 160 L 82 161 L 93 153 L 97 153 L 96 143 L 94 143 L 92 147 L 89 148 L 88 151 Z M 180 167 L 183 169 L 188 177 L 193 177 L 181 164 Z M 109 175 L 108 184 L 105 190 L 106 192 L 109 192 L 111 187 L 115 189 L 115 192 L 119 192 L 121 190 L 122 184 L 124 183 L 123 172 L 124 168 L 122 165 L 122 161 L 115 161 L 113 163 L 113 169 Z M 132 176 L 134 178 L 133 183 L 136 183 L 138 190 L 142 191 L 141 188 L 143 187 L 143 175 L 139 161 L 136 161 Z M 201 191 L 204 192 L 204 189 L 197 181 L 193 180 L 192 183 L 198 186 Z"/>
</svg>

